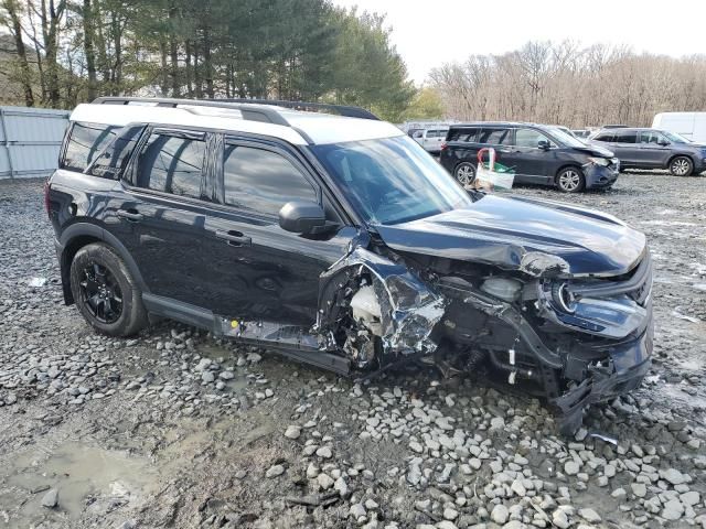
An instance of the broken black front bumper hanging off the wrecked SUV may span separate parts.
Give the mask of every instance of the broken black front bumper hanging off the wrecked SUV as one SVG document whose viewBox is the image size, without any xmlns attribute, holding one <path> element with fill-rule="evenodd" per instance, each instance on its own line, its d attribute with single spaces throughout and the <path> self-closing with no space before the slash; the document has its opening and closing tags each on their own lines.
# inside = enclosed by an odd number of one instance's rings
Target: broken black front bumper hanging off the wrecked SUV
<svg viewBox="0 0 706 529">
<path fill-rule="evenodd" d="M 580 384 L 552 400 L 559 410 L 559 428 L 564 434 L 571 435 L 580 428 L 588 406 L 614 399 L 640 386 L 652 365 L 653 339 L 650 317 L 637 337 L 607 348 L 610 358 L 607 366 L 589 368 Z"/>
</svg>

